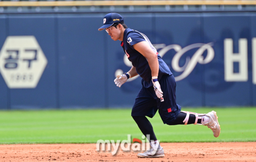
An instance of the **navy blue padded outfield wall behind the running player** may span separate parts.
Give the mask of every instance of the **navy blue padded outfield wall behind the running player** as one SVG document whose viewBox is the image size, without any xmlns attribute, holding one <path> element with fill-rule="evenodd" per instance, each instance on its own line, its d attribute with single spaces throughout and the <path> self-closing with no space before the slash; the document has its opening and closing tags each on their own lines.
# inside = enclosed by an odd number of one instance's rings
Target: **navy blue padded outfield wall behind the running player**
<svg viewBox="0 0 256 162">
<path fill-rule="evenodd" d="M 0 15 L 1 48 L 8 36 L 34 36 L 48 61 L 36 88 L 8 88 L 1 75 L 0 109 L 132 107 L 141 78 L 121 88 L 114 84 L 131 64 L 121 42 L 98 31 L 104 15 Z M 129 28 L 148 36 L 170 67 L 179 105 L 256 106 L 255 13 L 122 16 Z"/>
</svg>

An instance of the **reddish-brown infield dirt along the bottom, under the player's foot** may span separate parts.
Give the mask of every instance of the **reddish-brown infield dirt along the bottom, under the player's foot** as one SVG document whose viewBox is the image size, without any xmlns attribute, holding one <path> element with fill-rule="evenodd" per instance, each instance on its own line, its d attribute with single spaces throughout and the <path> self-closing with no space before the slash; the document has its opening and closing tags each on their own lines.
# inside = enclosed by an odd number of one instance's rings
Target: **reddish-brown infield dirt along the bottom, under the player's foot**
<svg viewBox="0 0 256 162">
<path fill-rule="evenodd" d="M 96 144 L 0 145 L 1 162 L 256 162 L 256 142 L 161 143 L 164 158 L 137 158 L 135 152 L 97 152 Z"/>
</svg>

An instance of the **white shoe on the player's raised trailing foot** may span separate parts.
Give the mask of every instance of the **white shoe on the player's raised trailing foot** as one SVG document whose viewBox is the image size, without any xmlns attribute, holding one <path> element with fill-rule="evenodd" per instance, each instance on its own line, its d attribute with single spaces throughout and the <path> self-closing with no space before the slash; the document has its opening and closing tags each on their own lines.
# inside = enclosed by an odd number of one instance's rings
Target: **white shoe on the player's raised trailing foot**
<svg viewBox="0 0 256 162">
<path fill-rule="evenodd" d="M 220 125 L 218 122 L 218 117 L 216 115 L 216 112 L 212 111 L 210 113 L 207 113 L 206 116 L 210 118 L 210 122 L 207 122 L 203 125 L 206 125 L 208 126 L 208 128 L 211 128 L 213 132 L 213 136 L 218 137 L 220 135 Z"/>
</svg>

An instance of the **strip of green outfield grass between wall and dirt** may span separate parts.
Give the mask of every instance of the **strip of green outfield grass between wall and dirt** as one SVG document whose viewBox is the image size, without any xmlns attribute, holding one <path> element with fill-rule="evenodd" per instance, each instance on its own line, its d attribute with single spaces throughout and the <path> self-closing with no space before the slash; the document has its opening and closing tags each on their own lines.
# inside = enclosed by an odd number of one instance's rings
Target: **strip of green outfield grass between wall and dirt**
<svg viewBox="0 0 256 162">
<path fill-rule="evenodd" d="M 163 124 L 157 113 L 149 119 L 160 142 L 256 141 L 256 108 L 183 108 L 183 111 L 216 111 L 218 138 L 202 125 Z M 131 109 L 0 111 L 0 144 L 95 143 L 97 140 L 142 139 Z"/>
</svg>

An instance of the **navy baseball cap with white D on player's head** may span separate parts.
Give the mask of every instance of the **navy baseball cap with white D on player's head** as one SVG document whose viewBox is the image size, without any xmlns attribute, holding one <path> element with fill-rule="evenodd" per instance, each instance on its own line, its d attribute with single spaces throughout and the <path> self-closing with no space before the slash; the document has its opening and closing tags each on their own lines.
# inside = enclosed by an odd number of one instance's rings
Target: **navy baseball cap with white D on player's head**
<svg viewBox="0 0 256 162">
<path fill-rule="evenodd" d="M 109 28 L 110 26 L 112 26 L 116 22 L 124 22 L 123 16 L 121 16 L 120 14 L 117 14 L 117 13 L 106 14 L 104 16 L 104 19 L 103 19 L 103 24 L 104 25 L 102 27 L 100 27 L 98 30 L 101 31 L 101 30 L 104 30 L 106 28 Z"/>
</svg>

